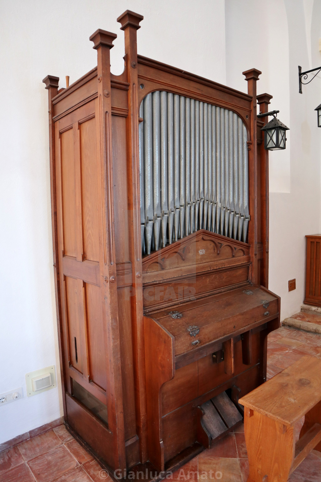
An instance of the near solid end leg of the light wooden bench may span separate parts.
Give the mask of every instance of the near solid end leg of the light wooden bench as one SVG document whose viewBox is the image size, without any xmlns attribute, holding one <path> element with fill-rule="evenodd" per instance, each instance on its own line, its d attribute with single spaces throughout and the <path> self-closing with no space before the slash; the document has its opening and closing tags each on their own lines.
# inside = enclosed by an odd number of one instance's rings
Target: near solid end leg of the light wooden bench
<svg viewBox="0 0 321 482">
<path fill-rule="evenodd" d="M 244 433 L 250 475 L 247 482 L 286 482 L 295 455 L 293 427 L 244 410 Z"/>
</svg>

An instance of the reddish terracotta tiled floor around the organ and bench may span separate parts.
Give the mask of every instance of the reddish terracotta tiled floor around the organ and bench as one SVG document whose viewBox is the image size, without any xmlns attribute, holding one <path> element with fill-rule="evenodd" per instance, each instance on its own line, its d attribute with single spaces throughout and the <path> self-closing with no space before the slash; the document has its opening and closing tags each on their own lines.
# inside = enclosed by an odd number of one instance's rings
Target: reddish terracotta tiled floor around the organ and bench
<svg viewBox="0 0 321 482">
<path fill-rule="evenodd" d="M 306 354 L 321 358 L 321 335 L 285 326 L 271 333 L 268 378 Z M 299 430 L 300 426 L 297 434 Z M 321 454 L 313 451 L 293 472 L 289 482 L 320 482 L 320 474 Z M 174 472 L 172 480 L 246 482 L 247 477 L 242 425 Z M 1 482 L 101 482 L 107 479 L 107 473 L 62 425 L 0 453 Z"/>
</svg>

